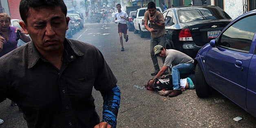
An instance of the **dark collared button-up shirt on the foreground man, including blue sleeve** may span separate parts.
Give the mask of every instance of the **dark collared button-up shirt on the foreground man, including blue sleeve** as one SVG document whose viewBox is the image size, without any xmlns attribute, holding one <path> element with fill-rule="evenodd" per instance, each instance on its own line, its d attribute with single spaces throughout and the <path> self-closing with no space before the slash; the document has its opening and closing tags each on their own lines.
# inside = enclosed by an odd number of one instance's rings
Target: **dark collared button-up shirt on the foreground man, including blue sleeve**
<svg viewBox="0 0 256 128">
<path fill-rule="evenodd" d="M 93 86 L 104 98 L 103 121 L 116 125 L 120 104 L 117 79 L 102 53 L 90 44 L 64 41 L 60 70 L 26 43 L 0 58 L 0 102 L 16 102 L 29 127 L 93 127 Z M 111 111 L 112 110 L 112 111 Z"/>
</svg>

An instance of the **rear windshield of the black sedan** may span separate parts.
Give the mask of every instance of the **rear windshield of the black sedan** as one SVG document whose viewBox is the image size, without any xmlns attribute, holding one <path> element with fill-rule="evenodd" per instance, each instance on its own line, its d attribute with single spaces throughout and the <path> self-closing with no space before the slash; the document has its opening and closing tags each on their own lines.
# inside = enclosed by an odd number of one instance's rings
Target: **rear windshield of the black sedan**
<svg viewBox="0 0 256 128">
<path fill-rule="evenodd" d="M 219 20 L 231 19 L 227 13 L 221 9 L 211 8 L 197 8 L 197 9 L 183 9 L 179 10 L 179 21 L 182 23 L 201 21 L 201 20 Z"/>
</svg>

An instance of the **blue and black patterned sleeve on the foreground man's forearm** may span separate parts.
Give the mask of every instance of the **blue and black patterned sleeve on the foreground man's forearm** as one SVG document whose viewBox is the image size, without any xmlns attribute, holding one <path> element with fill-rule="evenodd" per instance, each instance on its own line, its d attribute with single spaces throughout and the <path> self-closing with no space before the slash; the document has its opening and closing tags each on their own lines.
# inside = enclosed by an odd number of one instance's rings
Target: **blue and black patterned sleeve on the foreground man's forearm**
<svg viewBox="0 0 256 128">
<path fill-rule="evenodd" d="M 112 126 L 112 128 L 116 128 L 117 126 L 117 113 L 120 105 L 120 90 L 119 87 L 116 86 L 112 88 L 111 93 L 108 95 L 104 95 L 104 103 L 103 103 L 103 112 L 102 112 L 102 122 L 107 122 Z"/>
</svg>

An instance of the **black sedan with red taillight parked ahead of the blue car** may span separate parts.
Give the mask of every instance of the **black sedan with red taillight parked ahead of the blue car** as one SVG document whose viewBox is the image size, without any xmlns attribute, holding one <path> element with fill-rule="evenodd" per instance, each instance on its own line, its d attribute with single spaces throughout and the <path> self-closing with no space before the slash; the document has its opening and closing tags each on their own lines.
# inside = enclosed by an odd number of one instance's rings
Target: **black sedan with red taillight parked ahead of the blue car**
<svg viewBox="0 0 256 128">
<path fill-rule="evenodd" d="M 192 58 L 232 22 L 223 9 L 212 5 L 174 7 L 164 11 L 163 17 L 170 44 L 166 49 L 181 51 Z"/>
</svg>

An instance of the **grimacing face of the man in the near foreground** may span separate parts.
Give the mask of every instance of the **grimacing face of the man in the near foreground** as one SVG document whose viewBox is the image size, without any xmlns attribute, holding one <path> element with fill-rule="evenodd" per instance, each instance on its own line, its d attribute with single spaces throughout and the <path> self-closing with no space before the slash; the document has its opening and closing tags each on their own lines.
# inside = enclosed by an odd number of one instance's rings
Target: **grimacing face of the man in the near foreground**
<svg viewBox="0 0 256 128">
<path fill-rule="evenodd" d="M 29 9 L 27 23 L 21 22 L 24 33 L 29 33 L 40 53 L 54 53 L 63 49 L 69 18 L 60 7 Z"/>
</svg>

